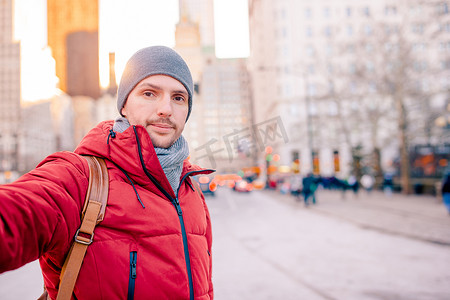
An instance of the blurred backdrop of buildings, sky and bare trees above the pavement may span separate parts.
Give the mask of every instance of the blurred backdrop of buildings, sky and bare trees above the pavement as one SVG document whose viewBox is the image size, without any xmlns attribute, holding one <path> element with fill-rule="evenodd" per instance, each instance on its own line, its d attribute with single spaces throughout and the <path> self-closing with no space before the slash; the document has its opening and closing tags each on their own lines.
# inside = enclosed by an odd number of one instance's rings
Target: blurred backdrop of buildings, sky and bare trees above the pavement
<svg viewBox="0 0 450 300">
<path fill-rule="evenodd" d="M 435 194 L 450 153 L 448 6 L 2 0 L 0 182 L 117 117 L 126 60 L 163 44 L 193 73 L 193 162 L 262 181 L 387 175 Z"/>
</svg>

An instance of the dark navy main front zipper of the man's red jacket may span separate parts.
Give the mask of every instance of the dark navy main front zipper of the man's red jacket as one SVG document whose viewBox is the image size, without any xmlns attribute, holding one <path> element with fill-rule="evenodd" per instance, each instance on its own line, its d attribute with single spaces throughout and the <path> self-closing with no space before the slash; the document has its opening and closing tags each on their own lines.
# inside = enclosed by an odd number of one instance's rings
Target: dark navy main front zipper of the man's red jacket
<svg viewBox="0 0 450 300">
<path fill-rule="evenodd" d="M 194 284 L 193 284 L 193 280 L 192 280 L 191 259 L 189 256 L 188 240 L 187 240 L 187 234 L 186 234 L 186 227 L 184 226 L 183 211 L 181 210 L 181 206 L 178 201 L 178 197 L 176 197 L 175 199 L 172 198 L 172 196 L 161 186 L 161 184 L 156 180 L 156 178 L 153 177 L 152 174 L 150 174 L 150 172 L 145 167 L 144 158 L 142 156 L 141 142 L 140 142 L 138 134 L 136 132 L 136 126 L 133 126 L 133 130 L 134 130 L 134 135 L 136 136 L 136 142 L 137 142 L 136 144 L 138 146 L 139 159 L 141 161 L 141 166 L 142 166 L 142 169 L 144 170 L 144 173 L 147 175 L 147 177 L 150 179 L 150 181 L 153 182 L 153 184 L 161 191 L 161 193 L 163 193 L 164 196 L 173 204 L 173 206 L 175 207 L 175 209 L 177 211 L 178 219 L 180 221 L 181 235 L 182 235 L 182 239 L 183 239 L 184 260 L 186 262 L 186 271 L 187 271 L 188 281 L 189 281 L 189 299 L 193 300 L 194 299 Z M 180 188 L 181 184 L 183 183 L 183 181 L 185 180 L 185 178 L 188 175 L 190 175 L 192 173 L 196 173 L 196 172 L 201 172 L 201 171 L 191 171 L 191 172 L 185 174 L 183 176 L 183 178 L 180 180 L 178 189 Z"/>
</svg>

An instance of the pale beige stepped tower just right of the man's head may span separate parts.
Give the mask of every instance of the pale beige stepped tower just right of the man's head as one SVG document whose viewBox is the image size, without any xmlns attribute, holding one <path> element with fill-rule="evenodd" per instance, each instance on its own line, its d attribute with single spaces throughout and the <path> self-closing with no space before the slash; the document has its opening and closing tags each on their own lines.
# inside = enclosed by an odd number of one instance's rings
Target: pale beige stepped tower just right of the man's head
<svg viewBox="0 0 450 300">
<path fill-rule="evenodd" d="M 175 49 L 189 65 L 195 84 L 194 110 L 184 132 L 191 160 L 219 172 L 252 166 L 243 139 L 236 140 L 236 131 L 242 134 L 252 125 L 246 61 L 216 58 L 210 38 L 205 46 L 202 33 L 213 31 L 208 27 L 213 24 L 212 1 L 181 1 L 180 9 Z"/>
</svg>

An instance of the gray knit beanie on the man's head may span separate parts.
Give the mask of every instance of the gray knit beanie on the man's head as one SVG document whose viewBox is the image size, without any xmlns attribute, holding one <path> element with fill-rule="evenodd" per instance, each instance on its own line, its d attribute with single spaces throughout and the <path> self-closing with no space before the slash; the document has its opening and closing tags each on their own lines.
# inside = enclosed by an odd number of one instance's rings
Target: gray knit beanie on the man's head
<svg viewBox="0 0 450 300">
<path fill-rule="evenodd" d="M 121 110 L 134 87 L 150 75 L 168 75 L 181 82 L 189 94 L 189 119 L 192 109 L 194 84 L 191 72 L 183 58 L 169 47 L 152 46 L 137 51 L 128 60 L 117 90 L 117 109 Z"/>
</svg>

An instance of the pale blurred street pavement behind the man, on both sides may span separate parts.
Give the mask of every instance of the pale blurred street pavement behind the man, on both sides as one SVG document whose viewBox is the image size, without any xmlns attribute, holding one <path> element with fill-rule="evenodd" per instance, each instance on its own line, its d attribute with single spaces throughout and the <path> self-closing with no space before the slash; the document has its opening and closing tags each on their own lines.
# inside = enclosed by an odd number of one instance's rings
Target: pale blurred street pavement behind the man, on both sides
<svg viewBox="0 0 450 300">
<path fill-rule="evenodd" d="M 431 196 L 219 189 L 215 299 L 449 299 L 450 216 Z M 0 299 L 36 299 L 37 263 L 0 275 Z"/>
</svg>

